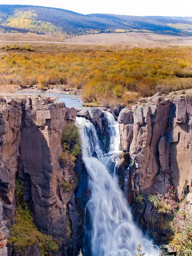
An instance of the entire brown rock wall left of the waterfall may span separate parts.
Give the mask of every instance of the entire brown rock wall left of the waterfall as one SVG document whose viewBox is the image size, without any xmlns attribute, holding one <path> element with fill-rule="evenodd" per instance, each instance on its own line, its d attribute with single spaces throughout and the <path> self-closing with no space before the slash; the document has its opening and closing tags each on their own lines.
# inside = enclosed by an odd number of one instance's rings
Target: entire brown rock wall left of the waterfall
<svg viewBox="0 0 192 256">
<path fill-rule="evenodd" d="M 17 175 L 26 188 L 25 200 L 30 204 L 38 229 L 63 240 L 61 251 L 66 254 L 58 255 L 76 255 L 81 242 L 80 222 L 84 213 L 84 205 L 79 207 L 76 204 L 76 194 L 87 189 L 84 182 L 86 175 L 81 170 L 81 157 L 76 168 L 61 167 L 58 161 L 62 152 L 62 132 L 68 123 L 75 121 L 76 109 L 41 97 L 26 98 L 20 102 L 2 100 L 1 109 L 0 198 L 6 225 L 10 227 L 15 222 Z M 85 187 L 76 188 L 79 179 Z M 60 186 L 64 181 L 71 184 L 70 191 L 65 192 Z M 79 201 L 83 200 L 86 201 L 79 198 Z M 66 219 L 70 227 L 67 227 Z M 67 228 L 70 229 L 70 236 Z"/>
</svg>

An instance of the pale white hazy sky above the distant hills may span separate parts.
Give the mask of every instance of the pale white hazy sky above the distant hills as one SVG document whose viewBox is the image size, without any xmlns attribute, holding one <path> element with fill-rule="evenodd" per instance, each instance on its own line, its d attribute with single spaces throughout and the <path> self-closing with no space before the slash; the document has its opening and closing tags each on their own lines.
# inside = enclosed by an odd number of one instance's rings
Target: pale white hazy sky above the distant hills
<svg viewBox="0 0 192 256">
<path fill-rule="evenodd" d="M 192 17 L 192 0 L 0 0 L 0 3 L 56 7 L 82 14 Z"/>
</svg>

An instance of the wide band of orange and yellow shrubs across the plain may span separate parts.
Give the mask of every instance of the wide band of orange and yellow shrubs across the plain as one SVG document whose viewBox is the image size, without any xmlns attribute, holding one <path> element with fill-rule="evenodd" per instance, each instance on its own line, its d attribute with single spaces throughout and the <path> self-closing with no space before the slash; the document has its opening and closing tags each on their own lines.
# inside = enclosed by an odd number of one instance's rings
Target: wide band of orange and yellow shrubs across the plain
<svg viewBox="0 0 192 256">
<path fill-rule="evenodd" d="M 192 87 L 191 47 L 58 54 L 13 54 L 0 59 L 0 85 L 82 89 L 85 102 L 128 103 L 126 92 L 151 96 Z M 131 97 L 131 99 L 130 99 Z"/>
</svg>

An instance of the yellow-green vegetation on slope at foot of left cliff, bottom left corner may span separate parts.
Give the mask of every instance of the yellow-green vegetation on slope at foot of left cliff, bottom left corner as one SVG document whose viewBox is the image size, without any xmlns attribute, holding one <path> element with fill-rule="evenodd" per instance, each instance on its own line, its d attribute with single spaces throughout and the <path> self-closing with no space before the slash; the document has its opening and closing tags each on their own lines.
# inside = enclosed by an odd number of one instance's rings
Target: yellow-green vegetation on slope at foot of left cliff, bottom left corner
<svg viewBox="0 0 192 256">
<path fill-rule="evenodd" d="M 15 224 L 10 227 L 8 243 L 13 244 L 20 256 L 24 255 L 25 248 L 38 244 L 41 256 L 49 250 L 58 251 L 58 244 L 52 236 L 44 235 L 33 223 L 30 210 L 24 205 L 16 211 Z"/>
</svg>

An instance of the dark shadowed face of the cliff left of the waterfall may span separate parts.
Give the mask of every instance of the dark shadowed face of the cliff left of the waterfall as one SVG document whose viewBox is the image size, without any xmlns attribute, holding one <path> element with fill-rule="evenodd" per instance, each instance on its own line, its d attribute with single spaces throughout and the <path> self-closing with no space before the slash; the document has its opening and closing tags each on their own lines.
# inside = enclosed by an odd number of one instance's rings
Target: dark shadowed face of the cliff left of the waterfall
<svg viewBox="0 0 192 256">
<path fill-rule="evenodd" d="M 53 196 L 50 182 L 52 175 L 51 154 L 49 145 L 43 134 L 44 127 L 38 127 L 34 122 L 36 111 L 32 106 L 23 107 L 20 157 L 18 165 L 24 178 L 28 180 L 28 196 L 31 196 L 34 211 L 34 222 L 39 230 L 50 232 L 49 198 Z M 30 187 L 31 186 L 31 187 Z M 31 192 L 29 191 L 31 189 Z M 31 194 L 31 195 L 30 195 Z M 29 199 L 29 198 L 27 198 Z"/>
</svg>

